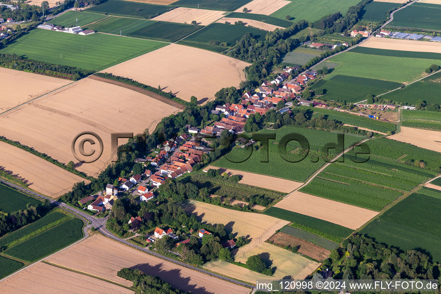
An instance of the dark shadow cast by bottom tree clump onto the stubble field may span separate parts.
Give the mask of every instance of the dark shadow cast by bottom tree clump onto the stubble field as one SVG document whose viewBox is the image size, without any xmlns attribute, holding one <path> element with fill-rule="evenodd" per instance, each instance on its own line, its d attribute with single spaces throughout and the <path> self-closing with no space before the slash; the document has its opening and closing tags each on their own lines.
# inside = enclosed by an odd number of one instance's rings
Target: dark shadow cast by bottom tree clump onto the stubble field
<svg viewBox="0 0 441 294">
<path fill-rule="evenodd" d="M 139 269 L 147 275 L 159 276 L 164 282 L 169 283 L 172 287 L 182 289 L 185 292 L 193 294 L 214 294 L 209 290 L 206 290 L 203 286 L 198 286 L 190 281 L 191 277 L 188 274 L 182 273 L 182 269 L 179 265 L 171 270 L 166 270 L 170 264 L 165 262 L 156 265 L 150 264 L 137 264 L 130 269 Z"/>
</svg>

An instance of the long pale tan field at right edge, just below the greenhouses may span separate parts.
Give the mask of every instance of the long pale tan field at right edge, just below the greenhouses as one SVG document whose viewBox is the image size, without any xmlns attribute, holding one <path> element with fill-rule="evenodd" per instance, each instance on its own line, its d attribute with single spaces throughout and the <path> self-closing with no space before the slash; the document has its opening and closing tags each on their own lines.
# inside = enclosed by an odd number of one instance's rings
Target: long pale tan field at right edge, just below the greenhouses
<svg viewBox="0 0 441 294">
<path fill-rule="evenodd" d="M 360 47 L 441 53 L 441 43 L 439 42 L 421 42 L 390 38 L 370 38 L 364 41 Z"/>
</svg>

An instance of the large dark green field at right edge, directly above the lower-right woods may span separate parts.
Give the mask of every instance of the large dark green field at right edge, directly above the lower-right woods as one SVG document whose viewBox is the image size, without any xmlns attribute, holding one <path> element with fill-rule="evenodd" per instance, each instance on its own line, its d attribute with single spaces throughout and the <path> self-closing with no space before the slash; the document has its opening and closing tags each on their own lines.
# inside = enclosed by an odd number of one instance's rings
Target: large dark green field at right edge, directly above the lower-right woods
<svg viewBox="0 0 441 294">
<path fill-rule="evenodd" d="M 441 199 L 411 194 L 369 223 L 360 233 L 404 251 L 422 249 L 433 257 L 433 262 L 440 262 L 440 209 Z"/>
</svg>

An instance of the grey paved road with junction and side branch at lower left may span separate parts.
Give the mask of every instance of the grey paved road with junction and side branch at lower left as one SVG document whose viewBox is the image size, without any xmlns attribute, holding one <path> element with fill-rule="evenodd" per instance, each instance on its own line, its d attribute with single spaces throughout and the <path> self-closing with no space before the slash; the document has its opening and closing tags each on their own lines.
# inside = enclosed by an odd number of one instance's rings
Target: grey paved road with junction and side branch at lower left
<svg viewBox="0 0 441 294">
<path fill-rule="evenodd" d="M 109 238 L 112 238 L 113 240 L 116 240 L 116 241 L 118 241 L 118 242 L 124 243 L 124 244 L 126 244 L 126 245 L 128 245 L 128 246 L 131 246 L 131 247 L 134 247 L 134 248 L 136 248 L 136 249 L 142 250 L 142 251 L 144 251 L 144 252 L 146 252 L 146 253 L 148 253 L 148 254 L 154 255 L 154 256 L 159 257 L 159 258 L 161 258 L 161 259 L 164 259 L 164 260 L 166 260 L 166 261 L 170 261 L 170 262 L 172 262 L 172 263 L 174 263 L 174 264 L 179 264 L 179 265 L 181 265 L 181 266 L 183 266 L 183 267 L 186 267 L 186 268 L 191 268 L 191 269 L 193 269 L 193 270 L 195 270 L 195 271 L 202 272 L 202 273 L 204 273 L 204 274 L 206 274 L 206 275 L 211 275 L 211 276 L 213 276 L 213 277 L 216 277 L 216 278 L 219 278 L 219 279 L 223 279 L 223 280 L 228 281 L 228 282 L 231 282 L 231 283 L 235 283 L 235 284 L 238 284 L 238 285 L 241 285 L 241 286 L 250 287 L 250 288 L 254 289 L 254 286 L 253 286 L 253 285 L 249 285 L 249 284 L 247 284 L 247 283 L 242 283 L 242 282 L 236 281 L 236 280 L 234 280 L 234 279 L 226 278 L 226 277 L 224 277 L 224 276 L 222 276 L 222 275 L 217 275 L 217 274 L 215 274 L 215 273 L 205 271 L 205 270 L 203 270 L 203 269 L 200 269 L 200 268 L 197 268 L 197 267 L 191 266 L 191 265 L 189 265 L 189 264 L 185 264 L 185 263 L 180 262 L 180 261 L 176 261 L 176 260 L 174 260 L 174 259 L 172 259 L 172 258 L 169 258 L 169 257 L 163 256 L 163 255 L 161 255 L 161 254 L 155 253 L 155 252 L 153 252 L 153 251 L 150 251 L 150 250 L 147 249 L 147 248 L 139 247 L 139 246 L 136 246 L 135 244 L 132 244 L 132 243 L 130 243 L 130 242 L 127 242 L 126 240 L 124 240 L 124 239 L 122 239 L 122 238 L 120 238 L 120 237 L 118 237 L 118 236 L 112 234 L 110 231 L 108 231 L 108 230 L 105 228 L 105 223 L 106 223 L 106 221 L 107 221 L 107 219 L 108 219 L 108 216 L 106 216 L 106 217 L 103 218 L 103 219 L 97 219 L 96 217 L 91 216 L 91 215 L 87 214 L 86 212 L 83 212 L 81 209 L 73 208 L 73 207 L 71 207 L 71 206 L 69 206 L 69 205 L 66 205 L 66 204 L 63 203 L 63 202 L 56 201 L 56 200 L 51 199 L 51 198 L 49 198 L 49 197 L 45 197 L 45 196 L 43 196 L 43 195 L 41 195 L 41 194 L 38 194 L 38 193 L 36 193 L 36 192 L 34 192 L 34 191 L 28 190 L 28 189 L 23 188 L 23 187 L 21 187 L 21 186 L 15 185 L 15 184 L 13 184 L 13 183 L 11 183 L 11 182 L 8 182 L 8 181 L 5 181 L 5 180 L 3 180 L 3 179 L 0 179 L 0 181 L 3 182 L 3 183 L 5 183 L 5 184 L 8 185 L 8 186 L 12 186 L 12 187 L 14 187 L 14 188 L 16 188 L 16 189 L 19 189 L 19 190 L 22 190 L 22 191 L 24 191 L 24 192 L 26 192 L 26 193 L 28 193 L 28 194 L 32 194 L 32 195 L 34 195 L 34 196 L 36 196 L 36 197 L 40 197 L 40 198 L 43 198 L 43 199 L 48 199 L 53 205 L 56 205 L 57 207 L 63 208 L 64 210 L 68 210 L 68 211 L 70 211 L 70 212 L 73 212 L 73 213 L 75 213 L 75 214 L 77 214 L 77 215 L 83 217 L 83 218 L 86 219 L 87 221 L 89 221 L 90 224 L 88 224 L 88 225 L 84 228 L 85 236 L 84 236 L 81 240 L 78 240 L 77 242 L 75 242 L 74 244 L 72 244 L 72 245 L 70 245 L 70 246 L 73 246 L 73 245 L 75 245 L 76 243 L 78 243 L 78 242 L 82 241 L 83 239 L 87 238 L 87 237 L 89 236 L 89 234 L 87 233 L 87 228 L 90 228 L 90 227 L 93 226 L 93 227 L 95 227 L 96 229 L 98 229 L 98 230 L 99 230 L 102 234 L 104 234 L 105 236 L 107 236 L 107 237 L 109 237 Z M 70 247 L 70 246 L 69 246 L 69 247 Z M 67 247 L 61 249 L 60 251 L 63 251 L 63 250 L 66 249 L 66 248 L 67 248 Z M 60 251 L 58 251 L 58 252 L 60 252 Z M 56 252 L 56 253 L 58 253 L 58 252 Z M 56 253 L 53 253 L 53 254 L 51 254 L 51 255 L 54 255 L 54 254 L 56 254 Z M 47 258 L 47 257 L 43 258 L 42 260 L 44 260 L 44 259 L 46 259 L 46 258 Z M 37 262 L 39 262 L 39 261 L 37 261 Z M 35 263 L 34 263 L 34 264 L 35 264 Z M 22 269 L 19 270 L 19 271 L 22 271 L 22 270 L 24 270 L 24 269 L 30 267 L 31 265 L 32 265 L 32 264 L 30 264 L 29 266 L 27 266 L 27 267 L 25 267 L 25 268 L 22 268 Z M 18 272 L 19 272 L 19 271 L 18 271 Z M 17 273 L 17 272 L 15 272 L 15 273 Z M 13 273 L 13 274 L 11 274 L 11 275 L 14 275 L 15 273 Z M 2 281 L 2 280 L 4 280 L 4 279 L 7 279 L 7 278 L 10 277 L 11 275 L 8 275 L 7 277 L 1 279 L 0 281 Z"/>
</svg>

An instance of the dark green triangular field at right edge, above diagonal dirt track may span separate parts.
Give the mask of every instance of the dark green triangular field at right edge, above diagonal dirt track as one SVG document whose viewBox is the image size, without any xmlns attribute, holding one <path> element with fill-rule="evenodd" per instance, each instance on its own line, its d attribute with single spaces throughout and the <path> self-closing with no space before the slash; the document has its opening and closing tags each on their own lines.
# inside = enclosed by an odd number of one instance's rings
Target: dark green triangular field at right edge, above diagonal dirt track
<svg viewBox="0 0 441 294">
<path fill-rule="evenodd" d="M 440 61 L 437 61 L 441 65 Z M 403 89 L 382 95 L 386 100 L 404 102 L 415 105 L 418 100 L 426 103 L 440 104 L 438 94 L 441 93 L 441 72 L 424 78 L 421 81 L 405 86 Z"/>
</svg>

